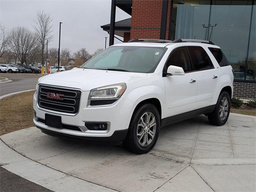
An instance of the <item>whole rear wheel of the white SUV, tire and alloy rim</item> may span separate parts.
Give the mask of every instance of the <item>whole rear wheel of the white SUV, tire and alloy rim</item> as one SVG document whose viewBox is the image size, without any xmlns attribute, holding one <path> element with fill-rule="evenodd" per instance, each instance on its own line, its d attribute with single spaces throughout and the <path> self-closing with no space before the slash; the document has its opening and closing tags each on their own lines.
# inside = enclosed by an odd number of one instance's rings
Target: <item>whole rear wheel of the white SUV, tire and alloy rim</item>
<svg viewBox="0 0 256 192">
<path fill-rule="evenodd" d="M 224 91 L 220 94 L 215 109 L 212 113 L 208 114 L 208 120 L 213 125 L 224 125 L 230 113 L 230 95 Z"/>
</svg>

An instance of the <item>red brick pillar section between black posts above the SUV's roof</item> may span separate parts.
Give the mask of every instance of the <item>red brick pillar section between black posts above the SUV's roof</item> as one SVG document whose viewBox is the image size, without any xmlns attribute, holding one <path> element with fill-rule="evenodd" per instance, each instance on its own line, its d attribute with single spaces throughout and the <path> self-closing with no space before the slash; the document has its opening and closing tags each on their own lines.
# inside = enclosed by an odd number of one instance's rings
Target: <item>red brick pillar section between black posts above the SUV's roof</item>
<svg viewBox="0 0 256 192">
<path fill-rule="evenodd" d="M 133 0 L 130 38 L 159 39 L 162 0 Z"/>
</svg>

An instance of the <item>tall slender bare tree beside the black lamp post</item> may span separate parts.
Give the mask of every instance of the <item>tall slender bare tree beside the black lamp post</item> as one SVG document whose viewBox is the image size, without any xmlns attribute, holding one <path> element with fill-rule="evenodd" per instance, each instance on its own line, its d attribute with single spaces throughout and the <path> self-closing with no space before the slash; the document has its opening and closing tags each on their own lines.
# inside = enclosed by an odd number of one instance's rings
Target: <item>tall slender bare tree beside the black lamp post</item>
<svg viewBox="0 0 256 192">
<path fill-rule="evenodd" d="M 33 27 L 36 30 L 36 35 L 41 47 L 41 58 L 42 58 L 42 65 L 44 64 L 45 60 L 45 47 L 46 47 L 46 40 L 52 40 L 53 35 L 52 33 L 52 17 L 50 14 L 46 14 L 44 11 L 38 11 L 36 13 L 36 19 L 34 20 L 35 24 Z"/>
</svg>

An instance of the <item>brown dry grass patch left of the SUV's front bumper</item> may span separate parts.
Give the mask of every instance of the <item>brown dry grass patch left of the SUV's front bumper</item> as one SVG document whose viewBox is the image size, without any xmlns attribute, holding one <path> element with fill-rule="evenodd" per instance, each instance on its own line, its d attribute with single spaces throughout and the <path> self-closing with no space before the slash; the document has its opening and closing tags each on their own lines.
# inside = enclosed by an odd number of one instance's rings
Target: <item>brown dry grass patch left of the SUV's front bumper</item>
<svg viewBox="0 0 256 192">
<path fill-rule="evenodd" d="M 24 92 L 0 101 L 0 135 L 34 126 L 33 94 Z"/>
</svg>

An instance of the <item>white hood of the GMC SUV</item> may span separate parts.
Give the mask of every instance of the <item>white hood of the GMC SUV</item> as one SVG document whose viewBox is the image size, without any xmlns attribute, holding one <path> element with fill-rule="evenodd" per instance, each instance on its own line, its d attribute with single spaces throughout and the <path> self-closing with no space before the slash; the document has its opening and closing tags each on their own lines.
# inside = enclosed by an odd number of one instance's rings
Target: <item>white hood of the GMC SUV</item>
<svg viewBox="0 0 256 192">
<path fill-rule="evenodd" d="M 39 84 L 64 86 L 78 88 L 82 91 L 90 91 L 101 86 L 132 82 L 146 78 L 146 76 L 146 73 L 74 68 L 72 70 L 44 76 L 40 79 Z"/>
</svg>

